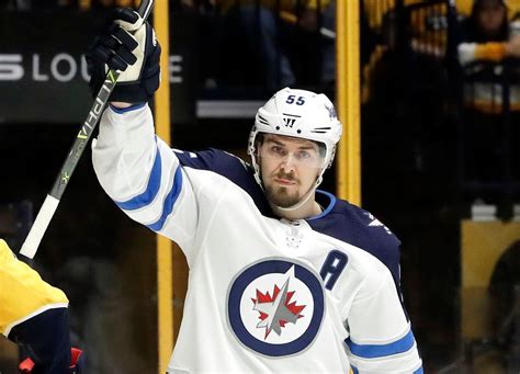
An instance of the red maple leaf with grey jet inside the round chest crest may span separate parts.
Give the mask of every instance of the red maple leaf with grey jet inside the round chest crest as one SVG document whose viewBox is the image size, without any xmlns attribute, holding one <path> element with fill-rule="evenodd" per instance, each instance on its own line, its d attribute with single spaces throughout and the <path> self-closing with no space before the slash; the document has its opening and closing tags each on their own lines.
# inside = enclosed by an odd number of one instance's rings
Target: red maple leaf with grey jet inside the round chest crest
<svg viewBox="0 0 520 374">
<path fill-rule="evenodd" d="M 263 339 L 267 339 L 271 331 L 280 337 L 282 328 L 286 324 L 296 324 L 296 320 L 304 317 L 299 313 L 306 305 L 296 305 L 296 302 L 291 303 L 294 291 L 289 291 L 289 279 L 281 288 L 276 284 L 274 285 L 272 296 L 269 291 L 262 294 L 257 288 L 257 298 L 251 298 L 255 304 L 252 309 L 260 313 L 260 322 L 257 328 L 265 328 Z"/>
</svg>

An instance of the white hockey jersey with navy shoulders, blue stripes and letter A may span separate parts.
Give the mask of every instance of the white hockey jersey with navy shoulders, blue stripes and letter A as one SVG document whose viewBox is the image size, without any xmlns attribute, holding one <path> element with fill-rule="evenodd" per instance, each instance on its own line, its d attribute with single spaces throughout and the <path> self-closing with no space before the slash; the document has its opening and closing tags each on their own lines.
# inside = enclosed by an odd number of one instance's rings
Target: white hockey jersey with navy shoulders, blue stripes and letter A
<svg viewBox="0 0 520 374">
<path fill-rule="evenodd" d="M 108 109 L 92 148 L 112 200 L 188 259 L 169 373 L 422 373 L 399 241 L 368 212 L 318 191 L 320 215 L 278 219 L 246 163 L 171 150 L 148 105 Z"/>
</svg>

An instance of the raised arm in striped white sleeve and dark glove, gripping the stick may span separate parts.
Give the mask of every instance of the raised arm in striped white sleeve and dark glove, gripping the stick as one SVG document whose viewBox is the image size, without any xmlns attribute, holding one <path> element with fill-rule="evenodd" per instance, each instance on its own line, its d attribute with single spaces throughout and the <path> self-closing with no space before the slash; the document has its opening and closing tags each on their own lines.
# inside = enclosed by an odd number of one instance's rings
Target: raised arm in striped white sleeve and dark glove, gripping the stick
<svg viewBox="0 0 520 374">
<path fill-rule="evenodd" d="M 92 143 L 92 162 L 121 209 L 186 250 L 197 222 L 196 199 L 179 159 L 155 135 L 147 102 L 160 82 L 160 45 L 150 24 L 139 22 L 132 10 L 118 10 L 88 54 L 93 90 L 109 67 L 122 70 Z"/>
</svg>

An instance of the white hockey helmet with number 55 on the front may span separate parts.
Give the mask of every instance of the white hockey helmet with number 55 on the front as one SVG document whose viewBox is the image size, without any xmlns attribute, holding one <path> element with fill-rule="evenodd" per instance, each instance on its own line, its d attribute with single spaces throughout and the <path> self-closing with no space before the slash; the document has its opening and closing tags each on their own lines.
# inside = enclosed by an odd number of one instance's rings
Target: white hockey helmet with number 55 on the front
<svg viewBox="0 0 520 374">
<path fill-rule="evenodd" d="M 249 134 L 248 155 L 255 168 L 255 178 L 262 186 L 260 168 L 256 158 L 258 134 L 275 134 L 314 140 L 325 146 L 324 167 L 316 180 L 332 165 L 336 145 L 342 126 L 330 100 L 323 93 L 284 88 L 258 110 Z"/>
</svg>

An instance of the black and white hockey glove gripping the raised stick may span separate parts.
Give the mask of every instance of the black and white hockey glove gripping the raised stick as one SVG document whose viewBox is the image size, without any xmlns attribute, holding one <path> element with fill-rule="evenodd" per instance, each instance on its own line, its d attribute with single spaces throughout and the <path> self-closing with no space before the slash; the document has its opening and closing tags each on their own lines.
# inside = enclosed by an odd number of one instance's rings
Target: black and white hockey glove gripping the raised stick
<svg viewBox="0 0 520 374">
<path fill-rule="evenodd" d="M 90 88 L 95 97 L 109 69 L 121 70 L 111 101 L 151 99 L 160 82 L 160 45 L 154 29 L 132 9 L 116 9 L 87 53 Z"/>
</svg>

